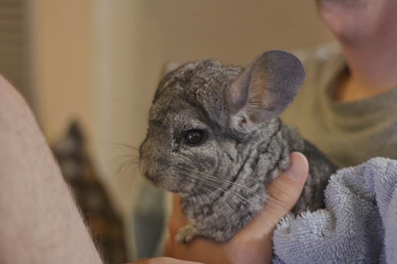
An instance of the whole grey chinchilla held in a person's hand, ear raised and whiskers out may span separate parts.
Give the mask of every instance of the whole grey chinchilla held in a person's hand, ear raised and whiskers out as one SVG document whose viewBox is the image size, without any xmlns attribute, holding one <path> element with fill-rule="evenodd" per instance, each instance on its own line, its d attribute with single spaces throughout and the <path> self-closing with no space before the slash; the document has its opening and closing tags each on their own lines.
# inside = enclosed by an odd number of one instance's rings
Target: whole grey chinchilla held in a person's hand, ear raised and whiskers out
<svg viewBox="0 0 397 264">
<path fill-rule="evenodd" d="M 294 213 L 324 206 L 336 166 L 278 115 L 305 79 L 303 65 L 282 51 L 263 53 L 247 68 L 189 62 L 160 82 L 149 112 L 140 170 L 157 187 L 178 193 L 189 223 L 176 240 L 229 240 L 268 199 L 265 187 L 298 151 L 309 177 Z"/>
</svg>

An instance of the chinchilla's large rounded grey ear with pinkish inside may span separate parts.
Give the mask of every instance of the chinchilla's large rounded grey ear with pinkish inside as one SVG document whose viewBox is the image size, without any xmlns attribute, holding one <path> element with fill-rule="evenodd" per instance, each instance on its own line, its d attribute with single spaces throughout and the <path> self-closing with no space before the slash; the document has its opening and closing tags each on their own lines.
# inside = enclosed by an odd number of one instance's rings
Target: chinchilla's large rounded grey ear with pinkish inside
<svg viewBox="0 0 397 264">
<path fill-rule="evenodd" d="M 282 51 L 265 52 L 226 88 L 230 127 L 249 132 L 255 125 L 282 113 L 305 80 L 297 57 Z"/>
</svg>

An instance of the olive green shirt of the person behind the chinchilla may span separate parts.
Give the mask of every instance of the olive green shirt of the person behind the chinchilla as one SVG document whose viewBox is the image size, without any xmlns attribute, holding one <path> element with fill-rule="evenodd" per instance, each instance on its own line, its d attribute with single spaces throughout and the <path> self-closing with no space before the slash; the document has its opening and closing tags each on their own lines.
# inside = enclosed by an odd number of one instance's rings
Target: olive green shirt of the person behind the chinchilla
<svg viewBox="0 0 397 264">
<path fill-rule="evenodd" d="M 335 102 L 330 95 L 346 70 L 341 53 L 323 49 L 307 56 L 302 58 L 305 83 L 282 120 L 340 167 L 373 157 L 397 159 L 397 89 L 364 100 Z"/>
</svg>

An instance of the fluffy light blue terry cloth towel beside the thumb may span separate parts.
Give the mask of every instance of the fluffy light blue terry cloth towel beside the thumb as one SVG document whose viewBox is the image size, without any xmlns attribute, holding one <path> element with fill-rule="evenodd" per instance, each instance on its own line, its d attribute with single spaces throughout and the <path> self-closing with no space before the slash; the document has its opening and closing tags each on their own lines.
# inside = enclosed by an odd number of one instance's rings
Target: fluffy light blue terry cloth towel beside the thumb
<svg viewBox="0 0 397 264">
<path fill-rule="evenodd" d="M 289 214 L 273 233 L 276 264 L 397 263 L 397 160 L 338 170 L 326 208 Z"/>
</svg>

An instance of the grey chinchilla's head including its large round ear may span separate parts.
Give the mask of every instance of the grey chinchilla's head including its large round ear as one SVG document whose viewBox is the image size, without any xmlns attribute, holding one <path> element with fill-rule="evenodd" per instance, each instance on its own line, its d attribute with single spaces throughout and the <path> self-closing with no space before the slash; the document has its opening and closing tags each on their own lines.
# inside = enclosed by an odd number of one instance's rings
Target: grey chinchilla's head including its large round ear
<svg viewBox="0 0 397 264">
<path fill-rule="evenodd" d="M 160 82 L 150 108 L 141 173 L 181 194 L 216 188 L 208 177 L 231 180 L 256 137 L 269 137 L 266 126 L 292 102 L 304 78 L 301 62 L 281 51 L 263 53 L 245 69 L 213 60 L 175 69 Z"/>
</svg>

